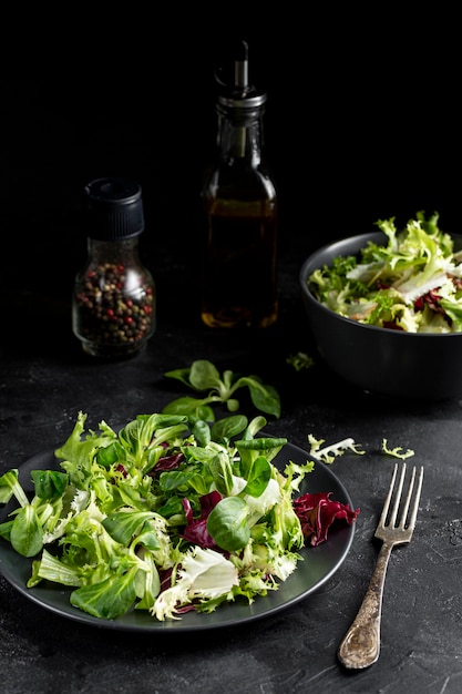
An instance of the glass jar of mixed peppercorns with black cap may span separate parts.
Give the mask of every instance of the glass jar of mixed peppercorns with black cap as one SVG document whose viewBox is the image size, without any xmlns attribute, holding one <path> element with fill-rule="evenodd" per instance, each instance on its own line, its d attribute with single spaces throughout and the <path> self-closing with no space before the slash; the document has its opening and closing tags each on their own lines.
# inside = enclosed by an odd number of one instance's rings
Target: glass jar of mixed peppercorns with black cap
<svg viewBox="0 0 462 694">
<path fill-rule="evenodd" d="M 102 359 L 134 357 L 156 327 L 156 294 L 141 264 L 142 191 L 126 178 L 97 178 L 85 186 L 88 261 L 78 273 L 72 329 L 83 350 Z"/>
</svg>

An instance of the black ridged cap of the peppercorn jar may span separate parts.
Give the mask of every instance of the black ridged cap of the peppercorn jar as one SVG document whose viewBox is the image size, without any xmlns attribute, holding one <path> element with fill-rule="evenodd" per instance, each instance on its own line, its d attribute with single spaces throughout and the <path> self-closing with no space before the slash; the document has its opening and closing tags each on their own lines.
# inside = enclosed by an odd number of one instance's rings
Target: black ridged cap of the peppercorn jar
<svg viewBox="0 0 462 694">
<path fill-rule="evenodd" d="M 123 177 L 96 178 L 85 185 L 89 232 L 99 241 L 121 241 L 144 231 L 141 185 Z"/>
</svg>

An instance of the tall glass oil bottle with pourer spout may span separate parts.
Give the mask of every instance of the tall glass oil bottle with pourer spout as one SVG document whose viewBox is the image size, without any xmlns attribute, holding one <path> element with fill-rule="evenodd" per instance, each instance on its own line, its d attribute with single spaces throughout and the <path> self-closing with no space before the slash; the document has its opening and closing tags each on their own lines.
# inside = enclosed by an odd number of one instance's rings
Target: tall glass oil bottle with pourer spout
<svg viewBox="0 0 462 694">
<path fill-rule="evenodd" d="M 237 47 L 232 83 L 218 73 L 216 81 L 216 162 L 202 191 L 202 320 L 213 328 L 266 328 L 278 317 L 278 210 L 263 147 L 267 96 L 248 82 L 246 42 Z"/>
</svg>

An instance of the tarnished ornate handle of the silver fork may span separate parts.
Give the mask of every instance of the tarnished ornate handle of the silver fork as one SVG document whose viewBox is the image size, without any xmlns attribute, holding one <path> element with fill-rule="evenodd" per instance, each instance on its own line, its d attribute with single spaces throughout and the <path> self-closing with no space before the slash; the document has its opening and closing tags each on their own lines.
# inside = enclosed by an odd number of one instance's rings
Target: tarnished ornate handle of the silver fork
<svg viewBox="0 0 462 694">
<path fill-rule="evenodd" d="M 383 584 L 391 548 L 387 542 L 381 545 L 361 606 L 338 649 L 340 663 L 350 670 L 368 667 L 379 660 Z"/>
</svg>

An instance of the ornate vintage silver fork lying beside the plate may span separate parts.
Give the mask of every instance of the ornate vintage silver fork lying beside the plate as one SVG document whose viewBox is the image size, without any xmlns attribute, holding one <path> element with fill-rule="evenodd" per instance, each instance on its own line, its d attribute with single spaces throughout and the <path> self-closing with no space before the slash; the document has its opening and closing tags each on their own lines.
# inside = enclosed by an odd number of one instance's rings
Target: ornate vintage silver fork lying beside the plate
<svg viewBox="0 0 462 694">
<path fill-rule="evenodd" d="M 360 670 L 368 667 L 379 660 L 380 654 L 380 620 L 383 601 L 383 585 L 387 573 L 388 561 L 391 550 L 397 544 L 403 544 L 411 541 L 415 527 L 417 513 L 419 510 L 420 493 L 422 491 L 423 467 L 417 482 L 414 500 L 411 509 L 409 521 L 408 511 L 411 503 L 412 490 L 415 482 L 415 468 L 412 469 L 409 482 L 408 493 L 402 507 L 401 517 L 398 525 L 396 524 L 398 510 L 401 502 L 401 493 L 405 476 L 405 462 L 402 463 L 401 476 L 398 489 L 394 494 L 394 504 L 391 516 L 387 522 L 390 503 L 393 497 L 394 482 L 398 473 L 398 463 L 394 465 L 393 474 L 388 490 L 387 499 L 383 504 L 382 514 L 377 525 L 374 537 L 382 541 L 379 555 L 377 558 L 376 568 L 366 591 L 358 614 L 352 622 L 350 629 L 345 634 L 342 642 L 338 649 L 337 655 L 339 661 L 349 670 Z"/>
</svg>

